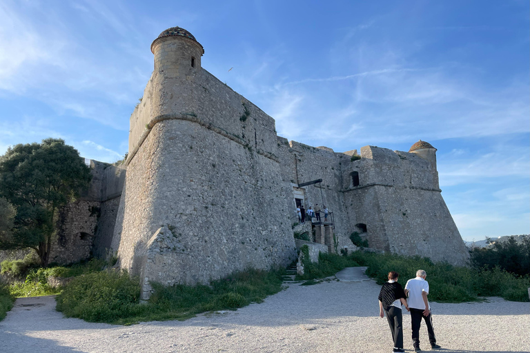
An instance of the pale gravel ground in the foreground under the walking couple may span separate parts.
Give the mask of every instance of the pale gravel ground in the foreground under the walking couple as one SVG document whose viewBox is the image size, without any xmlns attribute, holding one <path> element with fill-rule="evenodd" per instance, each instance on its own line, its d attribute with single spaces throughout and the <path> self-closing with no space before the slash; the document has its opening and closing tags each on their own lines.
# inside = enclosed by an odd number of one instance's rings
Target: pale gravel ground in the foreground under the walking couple
<svg viewBox="0 0 530 353">
<path fill-rule="evenodd" d="M 0 321 L 0 352 L 391 352 L 375 281 L 291 284 L 237 311 L 132 326 L 65 319 L 51 296 L 17 299 Z M 530 352 L 530 305 L 431 303 L 441 352 Z M 404 312 L 406 313 L 406 312 Z M 404 314 L 404 346 L 413 352 Z M 426 328 L 422 347 L 429 350 Z"/>
</svg>

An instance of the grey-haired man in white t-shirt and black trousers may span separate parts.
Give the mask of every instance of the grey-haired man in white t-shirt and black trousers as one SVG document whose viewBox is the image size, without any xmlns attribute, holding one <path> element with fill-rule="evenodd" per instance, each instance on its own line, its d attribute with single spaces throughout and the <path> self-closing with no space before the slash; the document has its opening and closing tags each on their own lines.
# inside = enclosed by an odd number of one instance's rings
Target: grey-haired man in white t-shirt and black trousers
<svg viewBox="0 0 530 353">
<path fill-rule="evenodd" d="M 427 325 L 427 332 L 429 332 L 429 343 L 433 349 L 440 348 L 436 344 L 436 337 L 434 336 L 433 318 L 431 316 L 431 306 L 427 300 L 429 294 L 429 283 L 425 281 L 427 274 L 424 270 L 416 272 L 415 279 L 409 279 L 405 285 L 405 294 L 409 297 L 409 307 L 411 309 L 411 323 L 412 323 L 412 343 L 415 352 L 420 350 L 420 327 L 422 325 L 422 318 Z"/>
</svg>

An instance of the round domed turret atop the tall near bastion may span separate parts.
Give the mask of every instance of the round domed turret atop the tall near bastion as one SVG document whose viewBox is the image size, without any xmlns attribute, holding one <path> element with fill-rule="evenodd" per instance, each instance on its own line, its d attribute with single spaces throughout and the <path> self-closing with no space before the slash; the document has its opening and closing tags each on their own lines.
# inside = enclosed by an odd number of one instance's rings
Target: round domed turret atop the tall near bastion
<svg viewBox="0 0 530 353">
<path fill-rule="evenodd" d="M 201 67 L 204 48 L 193 34 L 180 27 L 161 32 L 151 44 L 155 54 L 155 72 L 164 77 L 187 78 Z"/>
</svg>

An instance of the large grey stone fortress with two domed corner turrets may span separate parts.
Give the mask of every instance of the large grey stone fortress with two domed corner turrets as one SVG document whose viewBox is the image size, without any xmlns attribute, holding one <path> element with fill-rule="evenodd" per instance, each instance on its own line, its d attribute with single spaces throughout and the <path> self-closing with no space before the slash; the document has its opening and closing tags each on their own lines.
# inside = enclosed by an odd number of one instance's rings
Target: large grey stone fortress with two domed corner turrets
<svg viewBox="0 0 530 353">
<path fill-rule="evenodd" d="M 70 229 L 88 234 L 94 254 L 117 254 L 120 268 L 140 276 L 144 299 L 152 281 L 193 285 L 288 265 L 297 258 L 297 204 L 333 212 L 313 225 L 317 249 L 355 248 L 349 236 L 358 232 L 385 252 L 467 262 L 432 145 L 357 154 L 287 141 L 272 117 L 202 68 L 204 48 L 190 32 L 169 28 L 151 51 L 155 70 L 130 117 L 126 170 L 92 161 L 96 177 L 79 202 L 97 225 Z"/>
</svg>

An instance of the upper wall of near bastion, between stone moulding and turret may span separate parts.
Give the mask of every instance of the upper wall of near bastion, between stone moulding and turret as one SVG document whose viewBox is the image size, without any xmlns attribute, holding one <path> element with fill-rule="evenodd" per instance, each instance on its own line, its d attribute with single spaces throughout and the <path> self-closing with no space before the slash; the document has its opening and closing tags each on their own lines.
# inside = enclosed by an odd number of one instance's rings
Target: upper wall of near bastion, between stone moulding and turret
<svg viewBox="0 0 530 353">
<path fill-rule="evenodd" d="M 153 73 L 131 115 L 128 163 L 149 129 L 162 119 L 195 121 L 258 152 L 277 154 L 274 119 L 202 68 L 187 77 Z"/>
</svg>

